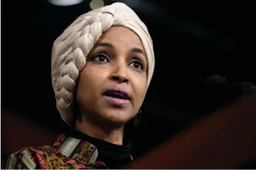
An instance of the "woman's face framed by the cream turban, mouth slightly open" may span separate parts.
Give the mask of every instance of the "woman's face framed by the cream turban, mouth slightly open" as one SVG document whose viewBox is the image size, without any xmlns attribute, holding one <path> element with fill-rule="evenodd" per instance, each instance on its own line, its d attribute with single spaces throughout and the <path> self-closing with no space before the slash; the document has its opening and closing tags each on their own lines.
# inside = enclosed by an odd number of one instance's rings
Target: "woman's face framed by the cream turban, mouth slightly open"
<svg viewBox="0 0 256 170">
<path fill-rule="evenodd" d="M 125 124 L 138 112 L 147 90 L 147 59 L 141 39 L 125 27 L 111 27 L 86 61 L 76 93 L 82 117 Z"/>
</svg>

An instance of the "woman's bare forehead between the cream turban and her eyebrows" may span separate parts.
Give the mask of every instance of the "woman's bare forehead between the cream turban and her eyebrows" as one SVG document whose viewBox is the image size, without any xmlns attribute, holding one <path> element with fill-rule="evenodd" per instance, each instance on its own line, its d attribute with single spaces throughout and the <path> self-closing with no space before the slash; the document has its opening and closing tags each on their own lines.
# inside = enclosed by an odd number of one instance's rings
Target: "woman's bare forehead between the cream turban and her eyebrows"
<svg viewBox="0 0 256 170">
<path fill-rule="evenodd" d="M 141 47 L 143 49 L 141 38 L 139 38 L 139 36 L 132 30 L 122 26 L 111 27 L 106 30 L 98 40 L 98 42 L 102 41 L 108 41 L 109 43 L 113 43 L 115 46 L 125 45 Z"/>
</svg>

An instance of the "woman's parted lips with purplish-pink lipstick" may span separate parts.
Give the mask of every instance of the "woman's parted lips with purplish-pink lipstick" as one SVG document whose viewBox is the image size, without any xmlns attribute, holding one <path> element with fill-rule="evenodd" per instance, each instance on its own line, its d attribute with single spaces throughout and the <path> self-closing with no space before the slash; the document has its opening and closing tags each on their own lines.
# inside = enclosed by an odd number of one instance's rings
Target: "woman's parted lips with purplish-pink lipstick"
<svg viewBox="0 0 256 170">
<path fill-rule="evenodd" d="M 123 99 L 107 95 L 107 94 L 110 94 L 110 93 L 120 94 L 123 97 Z M 128 102 L 130 102 L 130 99 L 131 99 L 130 94 L 127 91 L 125 91 L 123 88 L 120 88 L 120 87 L 108 88 L 108 90 L 106 90 L 103 93 L 103 97 L 107 101 L 109 101 L 112 104 L 117 105 L 119 107 L 121 107 L 122 105 L 127 104 Z"/>
</svg>

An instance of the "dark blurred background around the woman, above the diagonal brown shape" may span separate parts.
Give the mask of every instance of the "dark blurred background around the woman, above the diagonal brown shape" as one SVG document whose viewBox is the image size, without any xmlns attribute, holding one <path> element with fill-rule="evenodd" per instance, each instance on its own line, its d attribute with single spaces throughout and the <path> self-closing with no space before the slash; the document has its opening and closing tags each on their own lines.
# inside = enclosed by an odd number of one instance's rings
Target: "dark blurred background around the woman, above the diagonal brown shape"
<svg viewBox="0 0 256 170">
<path fill-rule="evenodd" d="M 1 162 L 65 131 L 51 87 L 53 42 L 79 15 L 113 2 L 2 2 Z M 119 2 L 144 21 L 155 49 L 135 157 L 255 90 L 254 1 Z"/>
</svg>

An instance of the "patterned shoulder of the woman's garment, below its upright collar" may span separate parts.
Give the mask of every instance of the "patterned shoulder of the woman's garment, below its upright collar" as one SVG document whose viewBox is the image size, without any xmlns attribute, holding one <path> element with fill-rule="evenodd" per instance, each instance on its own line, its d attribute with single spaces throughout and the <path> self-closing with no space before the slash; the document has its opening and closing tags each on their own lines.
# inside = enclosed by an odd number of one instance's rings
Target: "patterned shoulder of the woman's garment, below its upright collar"
<svg viewBox="0 0 256 170">
<path fill-rule="evenodd" d="M 103 169 L 103 163 L 84 165 L 49 146 L 26 147 L 11 154 L 5 169 Z"/>
</svg>

